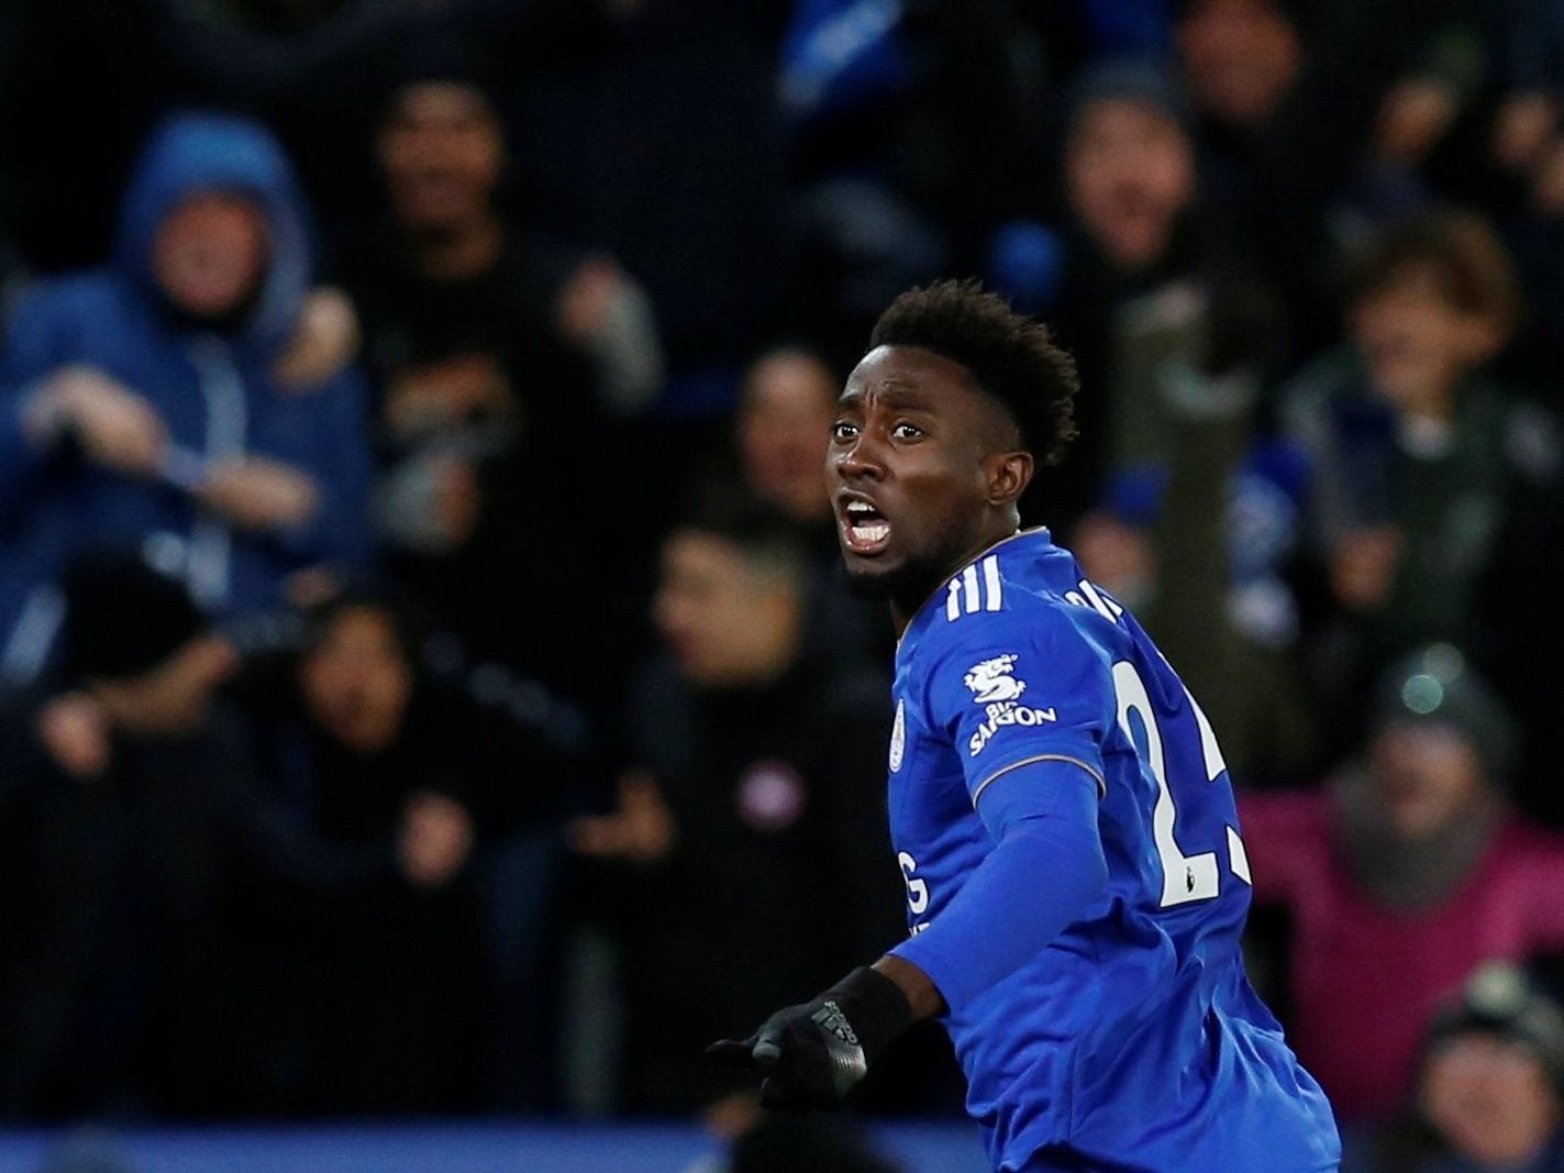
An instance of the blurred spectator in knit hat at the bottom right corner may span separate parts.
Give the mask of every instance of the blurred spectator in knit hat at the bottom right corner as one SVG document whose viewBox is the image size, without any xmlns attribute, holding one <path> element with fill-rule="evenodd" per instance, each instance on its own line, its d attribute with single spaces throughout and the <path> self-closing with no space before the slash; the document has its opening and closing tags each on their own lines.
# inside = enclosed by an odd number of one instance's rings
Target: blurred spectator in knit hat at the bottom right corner
<svg viewBox="0 0 1564 1173">
<path fill-rule="evenodd" d="M 1409 1120 L 1348 1142 L 1343 1173 L 1564 1168 L 1564 1012 L 1523 971 L 1484 965 L 1423 1038 Z"/>
</svg>

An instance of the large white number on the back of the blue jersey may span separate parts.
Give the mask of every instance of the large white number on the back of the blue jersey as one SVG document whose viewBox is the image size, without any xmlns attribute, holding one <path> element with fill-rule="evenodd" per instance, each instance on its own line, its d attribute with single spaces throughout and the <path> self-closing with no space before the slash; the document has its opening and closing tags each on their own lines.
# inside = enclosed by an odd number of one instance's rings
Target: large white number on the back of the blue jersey
<svg viewBox="0 0 1564 1173">
<path fill-rule="evenodd" d="M 1151 835 L 1157 845 L 1157 856 L 1162 857 L 1162 907 L 1189 904 L 1192 901 L 1215 899 L 1221 890 L 1217 852 L 1206 851 L 1198 856 L 1186 856 L 1173 835 L 1173 823 L 1178 820 L 1178 809 L 1173 805 L 1173 791 L 1168 788 L 1167 755 L 1162 752 L 1162 730 L 1157 729 L 1156 713 L 1151 710 L 1151 696 L 1140 679 L 1140 673 L 1128 660 L 1114 665 L 1114 693 L 1118 696 L 1118 727 L 1125 737 L 1134 743 L 1135 735 L 1129 726 L 1129 715 L 1139 713 L 1140 724 L 1146 730 L 1146 765 L 1157 780 L 1157 804 L 1151 812 Z M 1186 691 L 1186 696 L 1189 693 Z M 1217 776 L 1228 768 L 1217 748 L 1217 735 L 1211 730 L 1211 723 L 1189 696 L 1190 708 L 1195 712 L 1195 723 L 1200 726 L 1200 748 L 1206 762 L 1206 780 L 1215 782 Z M 1239 832 L 1228 827 L 1228 857 L 1232 873 L 1243 882 L 1250 882 L 1250 862 L 1243 851 L 1243 840 Z"/>
</svg>

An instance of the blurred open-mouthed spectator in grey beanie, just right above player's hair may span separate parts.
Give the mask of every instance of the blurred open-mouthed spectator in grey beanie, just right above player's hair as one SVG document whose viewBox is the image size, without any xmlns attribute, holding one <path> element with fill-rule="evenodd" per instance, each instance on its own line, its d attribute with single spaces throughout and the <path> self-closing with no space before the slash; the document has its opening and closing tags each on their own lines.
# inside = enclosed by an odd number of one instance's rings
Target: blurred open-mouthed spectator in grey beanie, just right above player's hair
<svg viewBox="0 0 1564 1173">
<path fill-rule="evenodd" d="M 1012 224 L 988 266 L 1076 360 L 1081 446 L 1023 502 L 1023 516 L 1046 504 L 1038 519 L 1070 532 L 1110 472 L 1162 460 L 1167 413 L 1146 374 L 1175 358 L 1170 344 L 1211 374 L 1262 364 L 1278 347 L 1264 285 L 1201 199 L 1189 109 L 1160 66 L 1110 59 L 1078 75 L 1064 178 L 1068 221 L 1053 247 L 1037 247 L 1038 225 Z"/>
</svg>

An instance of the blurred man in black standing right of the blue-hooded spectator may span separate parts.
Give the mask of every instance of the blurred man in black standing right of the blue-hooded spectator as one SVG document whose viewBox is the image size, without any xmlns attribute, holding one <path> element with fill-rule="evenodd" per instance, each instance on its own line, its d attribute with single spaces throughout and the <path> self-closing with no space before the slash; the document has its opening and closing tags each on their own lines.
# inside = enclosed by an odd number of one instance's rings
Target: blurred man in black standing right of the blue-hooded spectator
<svg viewBox="0 0 1564 1173">
<path fill-rule="evenodd" d="M 430 58 L 380 128 L 391 221 L 343 261 L 378 389 L 377 529 L 438 627 L 558 674 L 596 613 L 583 519 L 607 516 L 576 461 L 655 393 L 657 336 L 613 261 L 507 219 L 499 117 L 460 58 Z"/>
</svg>

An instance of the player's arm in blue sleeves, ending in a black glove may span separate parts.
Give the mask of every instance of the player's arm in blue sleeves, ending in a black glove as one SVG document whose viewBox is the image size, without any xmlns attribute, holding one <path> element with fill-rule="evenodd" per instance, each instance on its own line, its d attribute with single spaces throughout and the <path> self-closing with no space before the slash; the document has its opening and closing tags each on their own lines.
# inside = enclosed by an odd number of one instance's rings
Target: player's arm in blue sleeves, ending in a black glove
<svg viewBox="0 0 1564 1173">
<path fill-rule="evenodd" d="M 978 624 L 963 633 L 931 669 L 927 705 L 963 755 L 995 848 L 924 932 L 813 1001 L 771 1015 L 749 1038 L 712 1048 L 765 1070 L 762 1101 L 771 1107 L 838 1106 L 912 1023 L 1004 981 L 1103 898 L 1096 807 L 1112 723 L 1103 698 L 1112 685 L 1098 679 L 1101 662 L 1068 630 L 1056 632 L 1062 646 L 1034 632 L 1021 654 L 984 643 Z M 982 665 L 990 687 L 979 690 Z M 1028 693 L 1024 666 L 1048 680 L 1046 698 Z M 995 683 L 1001 677 L 1007 683 Z M 1010 701 L 982 698 L 1001 694 L 1046 716 L 996 723 L 993 705 Z"/>
</svg>

